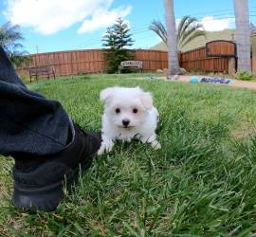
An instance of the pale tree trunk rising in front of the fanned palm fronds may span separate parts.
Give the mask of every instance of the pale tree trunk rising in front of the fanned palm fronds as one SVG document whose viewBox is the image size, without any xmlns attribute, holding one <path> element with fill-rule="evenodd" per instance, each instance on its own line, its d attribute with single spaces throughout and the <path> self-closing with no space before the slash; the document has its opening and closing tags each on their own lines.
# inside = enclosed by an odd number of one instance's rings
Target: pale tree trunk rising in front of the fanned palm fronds
<svg viewBox="0 0 256 237">
<path fill-rule="evenodd" d="M 166 27 L 167 27 L 167 46 L 168 46 L 168 76 L 179 73 L 176 26 L 174 15 L 174 0 L 164 0 Z"/>
</svg>

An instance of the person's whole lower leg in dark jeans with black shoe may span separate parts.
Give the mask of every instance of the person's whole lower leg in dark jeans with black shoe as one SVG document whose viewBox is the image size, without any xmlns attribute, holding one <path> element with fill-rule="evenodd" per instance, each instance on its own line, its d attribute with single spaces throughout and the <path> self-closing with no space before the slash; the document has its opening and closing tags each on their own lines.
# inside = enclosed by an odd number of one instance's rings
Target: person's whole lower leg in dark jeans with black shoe
<svg viewBox="0 0 256 237">
<path fill-rule="evenodd" d="M 0 47 L 0 154 L 11 155 L 14 206 L 54 210 L 80 167 L 91 164 L 101 136 L 86 134 L 55 100 L 29 91 Z"/>
</svg>

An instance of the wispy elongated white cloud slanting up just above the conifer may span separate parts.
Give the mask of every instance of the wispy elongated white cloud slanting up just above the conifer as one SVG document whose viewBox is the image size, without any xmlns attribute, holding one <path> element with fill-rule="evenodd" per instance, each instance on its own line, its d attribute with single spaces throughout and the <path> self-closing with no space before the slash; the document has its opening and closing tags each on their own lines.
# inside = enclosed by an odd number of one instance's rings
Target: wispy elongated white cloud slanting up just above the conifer
<svg viewBox="0 0 256 237">
<path fill-rule="evenodd" d="M 127 6 L 125 8 L 120 7 L 118 9 L 113 10 L 98 9 L 92 15 L 91 20 L 83 21 L 82 27 L 78 29 L 78 32 L 87 33 L 93 32 L 102 27 L 109 27 L 113 23 L 115 23 L 119 17 L 124 18 L 125 16 L 127 16 L 131 12 L 131 10 L 131 6 Z"/>
</svg>

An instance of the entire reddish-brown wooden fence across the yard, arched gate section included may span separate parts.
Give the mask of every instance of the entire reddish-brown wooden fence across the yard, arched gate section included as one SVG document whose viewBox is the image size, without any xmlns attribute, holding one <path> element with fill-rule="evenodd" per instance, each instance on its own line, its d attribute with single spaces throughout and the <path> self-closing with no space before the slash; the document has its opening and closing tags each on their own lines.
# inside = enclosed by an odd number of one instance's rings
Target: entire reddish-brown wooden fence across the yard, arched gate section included
<svg viewBox="0 0 256 237">
<path fill-rule="evenodd" d="M 168 65 L 166 51 L 135 51 L 136 60 L 143 62 L 144 72 L 165 69 Z M 28 68 L 34 66 L 51 66 L 56 76 L 72 76 L 105 71 L 102 49 L 74 50 L 32 54 L 27 67 L 17 68 L 19 75 L 28 76 Z M 196 48 L 179 55 L 179 64 L 187 71 L 224 72 L 230 70 L 229 60 L 235 61 L 236 46 L 228 41 L 214 41 L 204 47 Z M 234 63 L 235 64 L 235 63 Z"/>
</svg>

